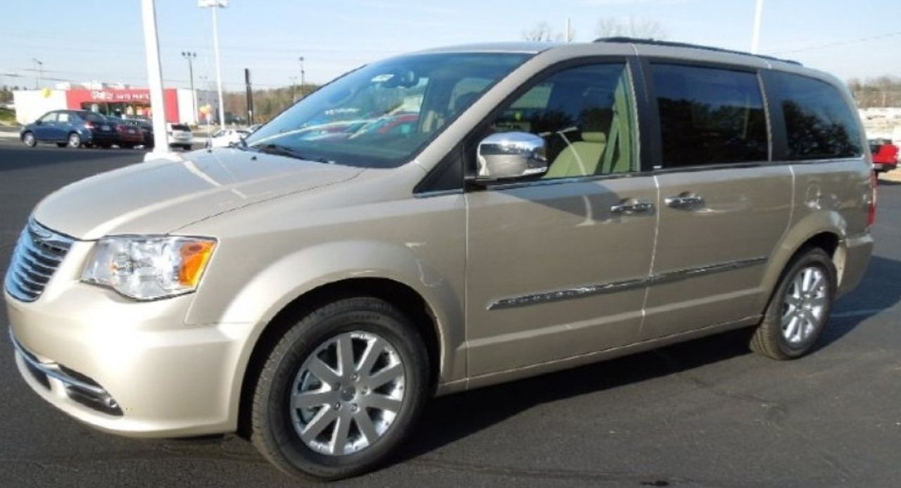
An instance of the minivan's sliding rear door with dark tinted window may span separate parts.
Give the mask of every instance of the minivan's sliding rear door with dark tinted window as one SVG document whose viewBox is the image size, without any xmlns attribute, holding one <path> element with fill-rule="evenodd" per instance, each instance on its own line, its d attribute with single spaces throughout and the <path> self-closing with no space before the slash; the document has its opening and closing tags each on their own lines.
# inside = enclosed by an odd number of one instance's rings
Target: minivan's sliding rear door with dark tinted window
<svg viewBox="0 0 901 488">
<path fill-rule="evenodd" d="M 769 163 L 757 73 L 650 64 L 660 119 L 660 228 L 642 339 L 760 314 L 792 175 Z"/>
</svg>

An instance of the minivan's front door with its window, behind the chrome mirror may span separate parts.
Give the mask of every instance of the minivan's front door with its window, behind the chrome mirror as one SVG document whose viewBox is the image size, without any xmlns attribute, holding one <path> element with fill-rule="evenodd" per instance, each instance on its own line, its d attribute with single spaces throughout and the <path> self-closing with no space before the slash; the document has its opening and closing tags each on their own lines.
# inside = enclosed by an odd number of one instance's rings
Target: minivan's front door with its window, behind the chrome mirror
<svg viewBox="0 0 901 488">
<path fill-rule="evenodd" d="M 551 165 L 466 195 L 470 376 L 639 339 L 658 194 L 635 174 L 630 80 L 625 61 L 563 68 L 489 124 L 541 135 Z"/>
</svg>

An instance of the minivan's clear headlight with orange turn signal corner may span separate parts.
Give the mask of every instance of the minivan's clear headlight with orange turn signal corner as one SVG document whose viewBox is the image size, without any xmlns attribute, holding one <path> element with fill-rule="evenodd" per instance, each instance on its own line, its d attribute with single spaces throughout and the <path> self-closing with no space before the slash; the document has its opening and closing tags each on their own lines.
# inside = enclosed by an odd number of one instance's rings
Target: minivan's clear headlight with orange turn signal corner
<svg viewBox="0 0 901 488">
<path fill-rule="evenodd" d="M 214 239 L 106 237 L 97 241 L 81 281 L 109 286 L 136 300 L 193 292 L 216 247 Z"/>
</svg>

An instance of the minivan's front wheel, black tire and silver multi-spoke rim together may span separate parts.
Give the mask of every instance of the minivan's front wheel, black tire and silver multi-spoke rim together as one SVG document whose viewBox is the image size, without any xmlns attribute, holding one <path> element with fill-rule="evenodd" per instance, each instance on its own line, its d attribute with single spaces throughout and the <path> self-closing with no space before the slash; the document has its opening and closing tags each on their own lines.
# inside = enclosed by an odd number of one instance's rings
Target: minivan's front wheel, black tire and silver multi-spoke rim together
<svg viewBox="0 0 901 488">
<path fill-rule="evenodd" d="M 341 479 L 385 462 L 428 393 L 414 325 L 376 298 L 325 305 L 287 330 L 259 374 L 251 436 L 287 474 Z"/>
</svg>

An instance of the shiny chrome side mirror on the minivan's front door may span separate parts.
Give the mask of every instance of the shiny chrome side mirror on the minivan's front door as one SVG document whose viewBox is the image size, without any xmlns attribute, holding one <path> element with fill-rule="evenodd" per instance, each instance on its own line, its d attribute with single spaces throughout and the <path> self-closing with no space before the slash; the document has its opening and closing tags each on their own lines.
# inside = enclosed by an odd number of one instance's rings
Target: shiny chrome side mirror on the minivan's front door
<svg viewBox="0 0 901 488">
<path fill-rule="evenodd" d="M 544 140 L 528 132 L 491 134 L 478 143 L 476 154 L 478 182 L 539 176 L 548 170 Z"/>
</svg>

